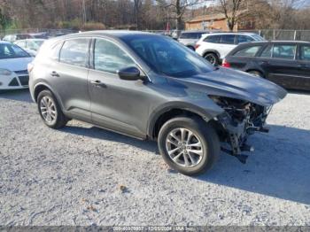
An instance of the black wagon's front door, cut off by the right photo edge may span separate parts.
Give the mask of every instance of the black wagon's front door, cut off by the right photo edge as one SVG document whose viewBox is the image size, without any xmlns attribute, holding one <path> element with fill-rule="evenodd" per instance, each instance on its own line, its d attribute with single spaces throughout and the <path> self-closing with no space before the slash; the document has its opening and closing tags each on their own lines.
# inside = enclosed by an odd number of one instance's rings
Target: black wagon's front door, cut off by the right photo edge
<svg viewBox="0 0 310 232">
<path fill-rule="evenodd" d="M 298 44 L 298 66 L 297 88 L 310 90 L 310 44 Z"/>
</svg>

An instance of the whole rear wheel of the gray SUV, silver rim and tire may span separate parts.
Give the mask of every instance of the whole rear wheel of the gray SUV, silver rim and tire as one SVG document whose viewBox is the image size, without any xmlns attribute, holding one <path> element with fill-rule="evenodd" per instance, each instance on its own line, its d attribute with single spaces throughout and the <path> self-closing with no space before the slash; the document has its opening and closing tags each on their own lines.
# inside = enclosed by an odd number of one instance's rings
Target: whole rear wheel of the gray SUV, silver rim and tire
<svg viewBox="0 0 310 232">
<path fill-rule="evenodd" d="M 37 105 L 40 116 L 49 128 L 63 128 L 66 126 L 68 119 L 61 111 L 56 97 L 50 90 L 43 90 L 37 97 Z"/>
</svg>

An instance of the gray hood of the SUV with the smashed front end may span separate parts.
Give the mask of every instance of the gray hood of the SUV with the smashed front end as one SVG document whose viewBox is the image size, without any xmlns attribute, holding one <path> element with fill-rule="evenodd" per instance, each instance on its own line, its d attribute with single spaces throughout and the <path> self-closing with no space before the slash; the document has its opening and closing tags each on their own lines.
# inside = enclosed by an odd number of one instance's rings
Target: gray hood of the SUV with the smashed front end
<svg viewBox="0 0 310 232">
<path fill-rule="evenodd" d="M 287 94 L 286 90 L 271 81 L 221 67 L 189 78 L 174 78 L 174 81 L 205 91 L 207 95 L 231 97 L 263 106 L 275 104 Z"/>
</svg>

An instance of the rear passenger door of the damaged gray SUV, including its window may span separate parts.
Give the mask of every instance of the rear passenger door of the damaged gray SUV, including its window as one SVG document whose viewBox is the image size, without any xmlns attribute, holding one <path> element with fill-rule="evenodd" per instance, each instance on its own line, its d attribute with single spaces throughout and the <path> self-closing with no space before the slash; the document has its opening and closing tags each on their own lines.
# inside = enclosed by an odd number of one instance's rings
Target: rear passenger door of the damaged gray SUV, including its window
<svg viewBox="0 0 310 232">
<path fill-rule="evenodd" d="M 90 98 L 87 87 L 89 73 L 89 39 L 68 39 L 58 52 L 58 62 L 47 67 L 51 86 L 68 114 L 79 120 L 90 120 Z"/>
</svg>

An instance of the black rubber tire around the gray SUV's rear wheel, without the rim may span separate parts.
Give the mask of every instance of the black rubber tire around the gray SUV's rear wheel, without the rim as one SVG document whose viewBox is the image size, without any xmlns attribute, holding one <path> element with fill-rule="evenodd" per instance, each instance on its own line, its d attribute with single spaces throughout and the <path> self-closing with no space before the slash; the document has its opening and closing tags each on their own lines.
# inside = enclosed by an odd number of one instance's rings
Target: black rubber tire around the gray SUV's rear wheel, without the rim
<svg viewBox="0 0 310 232">
<path fill-rule="evenodd" d="M 54 109 L 53 111 L 56 112 L 54 120 L 48 121 L 43 116 L 43 111 L 41 109 L 43 97 L 48 97 L 48 99 L 52 101 L 53 109 Z M 54 97 L 54 95 L 50 92 L 50 90 L 43 90 L 42 92 L 40 92 L 37 97 L 36 102 L 37 102 L 38 111 L 40 113 L 41 119 L 43 120 L 46 126 L 48 126 L 49 128 L 54 128 L 54 129 L 63 128 L 66 126 L 68 119 L 66 118 L 65 114 L 62 112 L 56 97 Z"/>
</svg>

